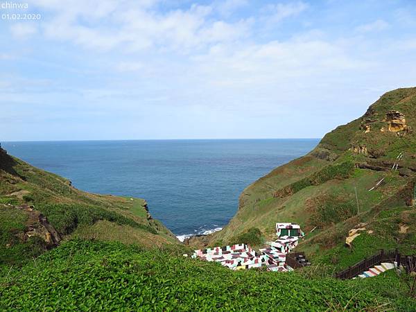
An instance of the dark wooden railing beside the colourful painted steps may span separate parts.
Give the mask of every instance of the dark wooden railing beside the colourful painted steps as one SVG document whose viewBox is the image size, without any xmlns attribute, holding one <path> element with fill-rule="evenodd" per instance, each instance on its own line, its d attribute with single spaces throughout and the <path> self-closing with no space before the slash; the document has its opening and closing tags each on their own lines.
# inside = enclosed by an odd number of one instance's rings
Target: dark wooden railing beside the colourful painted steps
<svg viewBox="0 0 416 312">
<path fill-rule="evenodd" d="M 402 256 L 398 250 L 388 251 L 380 250 L 379 253 L 374 254 L 372 257 L 365 258 L 362 261 L 356 263 L 354 266 L 336 273 L 335 277 L 338 279 L 352 279 L 364 271 L 378 266 L 382 262 L 397 262 L 397 266 L 404 266 L 407 272 L 416 271 L 416 256 Z"/>
</svg>

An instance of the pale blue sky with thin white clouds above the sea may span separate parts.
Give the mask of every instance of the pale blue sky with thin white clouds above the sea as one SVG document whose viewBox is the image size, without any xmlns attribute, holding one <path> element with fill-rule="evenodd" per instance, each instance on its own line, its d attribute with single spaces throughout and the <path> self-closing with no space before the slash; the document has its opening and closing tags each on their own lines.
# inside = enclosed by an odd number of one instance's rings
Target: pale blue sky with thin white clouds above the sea
<svg viewBox="0 0 416 312">
<path fill-rule="evenodd" d="M 412 0 L 0 0 L 0 13 L 0 141 L 319 138 L 416 85 Z"/>
</svg>

